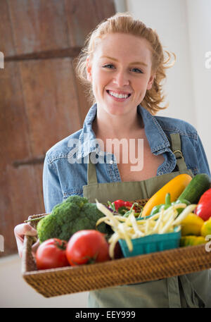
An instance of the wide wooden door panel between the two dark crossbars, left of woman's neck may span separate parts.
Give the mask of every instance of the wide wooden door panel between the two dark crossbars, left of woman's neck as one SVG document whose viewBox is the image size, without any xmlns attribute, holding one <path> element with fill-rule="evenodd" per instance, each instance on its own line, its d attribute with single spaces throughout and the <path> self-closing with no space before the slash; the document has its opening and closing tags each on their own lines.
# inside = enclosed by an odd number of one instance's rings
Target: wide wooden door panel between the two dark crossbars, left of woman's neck
<svg viewBox="0 0 211 322">
<path fill-rule="evenodd" d="M 81 126 L 71 61 L 57 58 L 20 63 L 33 156 L 44 154 Z"/>
</svg>

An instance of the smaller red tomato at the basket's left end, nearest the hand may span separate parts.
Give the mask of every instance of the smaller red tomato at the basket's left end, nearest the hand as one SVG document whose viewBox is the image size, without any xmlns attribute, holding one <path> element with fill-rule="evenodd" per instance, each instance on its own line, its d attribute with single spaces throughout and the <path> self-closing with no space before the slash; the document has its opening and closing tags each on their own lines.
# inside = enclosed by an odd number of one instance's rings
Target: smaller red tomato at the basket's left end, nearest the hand
<svg viewBox="0 0 211 322">
<path fill-rule="evenodd" d="M 70 266 L 66 257 L 67 242 L 51 238 L 42 242 L 36 252 L 37 269 Z"/>
</svg>

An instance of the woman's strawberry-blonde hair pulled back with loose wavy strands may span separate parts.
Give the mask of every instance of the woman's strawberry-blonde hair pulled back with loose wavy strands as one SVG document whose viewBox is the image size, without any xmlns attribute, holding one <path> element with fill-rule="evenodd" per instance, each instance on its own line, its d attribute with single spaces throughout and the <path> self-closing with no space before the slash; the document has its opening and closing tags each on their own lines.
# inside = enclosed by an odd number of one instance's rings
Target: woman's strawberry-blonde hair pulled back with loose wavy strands
<svg viewBox="0 0 211 322">
<path fill-rule="evenodd" d="M 163 50 L 157 32 L 150 27 L 146 27 L 140 20 L 134 20 L 130 13 L 116 13 L 115 16 L 99 23 L 96 28 L 89 33 L 81 53 L 74 61 L 76 75 L 82 84 L 86 85 L 89 101 L 91 104 L 95 103 L 91 82 L 87 80 L 87 57 L 92 56 L 98 41 L 100 41 L 103 36 L 117 32 L 142 37 L 151 44 L 152 72 L 155 73 L 155 78 L 152 88 L 146 91 L 146 95 L 140 104 L 152 114 L 155 114 L 162 109 L 166 109 L 167 105 L 164 107 L 160 106 L 165 99 L 165 96 L 162 94 L 161 82 L 166 78 L 165 69 L 174 65 L 176 56 L 174 53 L 171 53 L 174 56 L 174 61 L 173 63 L 170 63 L 171 54 L 169 51 Z M 166 59 L 165 54 L 167 54 Z"/>
</svg>

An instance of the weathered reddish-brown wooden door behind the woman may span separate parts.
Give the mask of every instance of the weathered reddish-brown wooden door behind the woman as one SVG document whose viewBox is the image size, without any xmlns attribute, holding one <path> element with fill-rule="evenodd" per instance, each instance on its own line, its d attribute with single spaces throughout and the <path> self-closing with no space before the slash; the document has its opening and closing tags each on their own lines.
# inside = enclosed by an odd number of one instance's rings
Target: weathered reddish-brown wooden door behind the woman
<svg viewBox="0 0 211 322">
<path fill-rule="evenodd" d="M 17 252 L 15 225 L 45 211 L 45 153 L 82 128 L 90 107 L 72 60 L 114 13 L 111 0 L 0 1 L 0 256 Z"/>
</svg>

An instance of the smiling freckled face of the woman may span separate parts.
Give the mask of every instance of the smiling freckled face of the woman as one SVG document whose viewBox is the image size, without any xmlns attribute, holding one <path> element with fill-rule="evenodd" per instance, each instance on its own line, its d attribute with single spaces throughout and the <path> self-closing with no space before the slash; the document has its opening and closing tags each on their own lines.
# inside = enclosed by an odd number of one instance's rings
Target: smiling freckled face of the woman
<svg viewBox="0 0 211 322">
<path fill-rule="evenodd" d="M 87 78 L 91 82 L 98 111 L 113 115 L 136 113 L 151 89 L 151 45 L 146 39 L 127 34 L 108 34 L 87 58 Z"/>
</svg>

